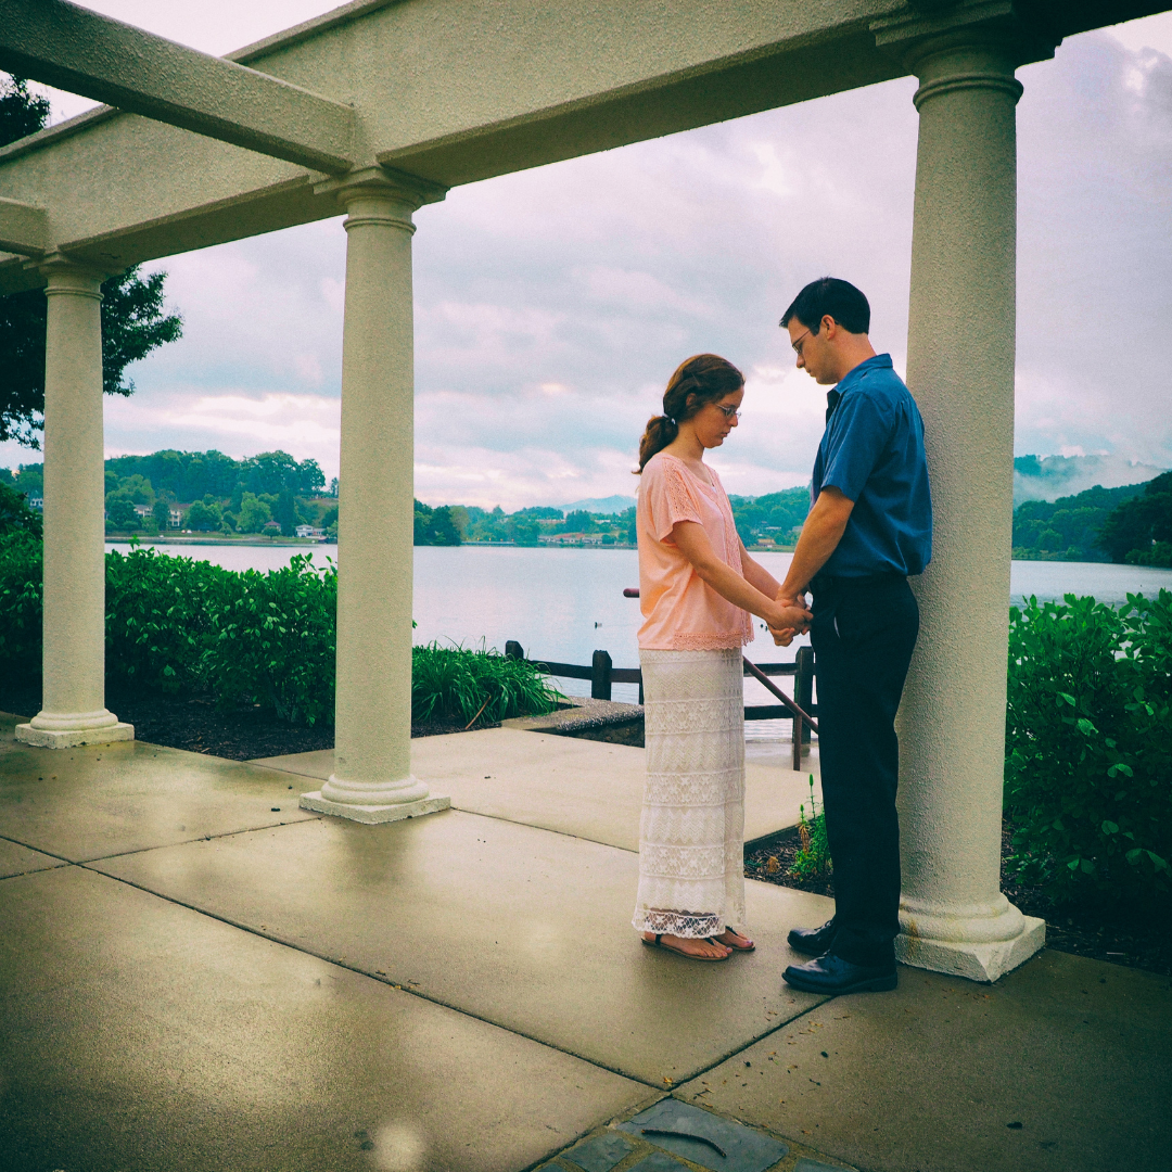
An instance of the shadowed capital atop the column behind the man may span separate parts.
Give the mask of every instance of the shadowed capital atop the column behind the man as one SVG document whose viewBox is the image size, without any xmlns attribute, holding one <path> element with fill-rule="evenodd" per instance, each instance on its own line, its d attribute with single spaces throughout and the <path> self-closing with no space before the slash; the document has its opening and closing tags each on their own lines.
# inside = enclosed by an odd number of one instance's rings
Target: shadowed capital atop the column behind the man
<svg viewBox="0 0 1172 1172">
<path fill-rule="evenodd" d="M 966 70 L 956 62 L 952 71 L 959 67 L 974 74 L 970 84 L 984 80 L 995 88 L 1003 88 L 997 75 L 1008 74 L 1011 81 L 1020 66 L 1052 57 L 1062 41 L 1020 0 L 906 0 L 900 11 L 873 20 L 870 29 L 877 48 L 897 55 L 921 80 L 925 73 L 939 71 L 932 68 L 936 57 L 983 50 L 990 57 L 981 62 L 984 68 Z"/>
</svg>

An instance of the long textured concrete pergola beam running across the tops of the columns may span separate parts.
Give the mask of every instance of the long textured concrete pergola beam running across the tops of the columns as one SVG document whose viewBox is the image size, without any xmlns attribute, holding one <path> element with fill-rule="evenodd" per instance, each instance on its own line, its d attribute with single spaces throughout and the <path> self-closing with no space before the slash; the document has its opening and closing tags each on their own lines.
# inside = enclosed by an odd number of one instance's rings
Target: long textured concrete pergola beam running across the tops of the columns
<svg viewBox="0 0 1172 1172">
<path fill-rule="evenodd" d="M 0 16 L 18 4 L 38 7 L 0 0 Z M 1168 0 L 974 5 L 1023 7 L 1058 38 Z M 359 166 L 452 188 L 901 76 L 907 62 L 877 46 L 875 26 L 915 11 L 902 0 L 738 0 L 714 19 L 710 0 L 355 0 L 229 56 L 355 103 Z M 109 271 L 336 216 L 318 179 L 111 109 L 0 149 L 0 195 L 60 192 L 53 246 Z M 0 295 L 38 280 L 0 254 Z"/>
</svg>

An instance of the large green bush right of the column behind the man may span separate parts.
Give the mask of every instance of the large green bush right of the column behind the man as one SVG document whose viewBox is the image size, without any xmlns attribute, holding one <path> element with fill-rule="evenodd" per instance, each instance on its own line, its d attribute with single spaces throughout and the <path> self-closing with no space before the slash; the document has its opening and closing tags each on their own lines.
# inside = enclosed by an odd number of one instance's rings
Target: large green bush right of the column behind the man
<svg viewBox="0 0 1172 1172">
<path fill-rule="evenodd" d="M 1009 621 L 1011 864 L 1057 902 L 1172 893 L 1172 593 L 1030 599 Z"/>
</svg>

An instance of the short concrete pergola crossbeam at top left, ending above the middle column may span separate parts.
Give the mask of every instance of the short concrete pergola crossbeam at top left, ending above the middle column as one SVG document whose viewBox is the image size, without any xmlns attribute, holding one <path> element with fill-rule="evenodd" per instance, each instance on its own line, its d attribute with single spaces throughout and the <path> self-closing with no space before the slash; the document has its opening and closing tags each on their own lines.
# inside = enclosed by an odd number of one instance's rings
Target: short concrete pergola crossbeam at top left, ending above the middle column
<svg viewBox="0 0 1172 1172">
<path fill-rule="evenodd" d="M 0 68 L 319 171 L 354 162 L 353 107 L 66 0 L 0 0 Z"/>
</svg>

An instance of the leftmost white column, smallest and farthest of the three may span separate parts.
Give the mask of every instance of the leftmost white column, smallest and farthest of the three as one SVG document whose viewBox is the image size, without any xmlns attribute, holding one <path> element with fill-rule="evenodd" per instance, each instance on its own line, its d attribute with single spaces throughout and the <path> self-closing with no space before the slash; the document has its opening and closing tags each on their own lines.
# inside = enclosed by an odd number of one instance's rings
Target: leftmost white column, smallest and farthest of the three
<svg viewBox="0 0 1172 1172">
<path fill-rule="evenodd" d="M 41 711 L 16 740 L 47 749 L 132 741 L 105 708 L 102 274 L 63 259 L 45 339 L 45 614 Z"/>
</svg>

